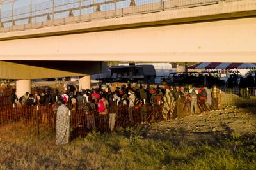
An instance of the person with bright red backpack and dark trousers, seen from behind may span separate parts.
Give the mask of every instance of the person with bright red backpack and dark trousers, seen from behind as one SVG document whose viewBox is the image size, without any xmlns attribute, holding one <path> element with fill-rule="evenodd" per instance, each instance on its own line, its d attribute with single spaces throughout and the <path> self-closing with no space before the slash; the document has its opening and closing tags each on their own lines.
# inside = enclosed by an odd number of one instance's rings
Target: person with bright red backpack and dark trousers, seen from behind
<svg viewBox="0 0 256 170">
<path fill-rule="evenodd" d="M 108 131 L 108 100 L 106 94 L 102 94 L 102 99 L 98 102 L 98 112 L 100 115 L 100 132 Z"/>
</svg>

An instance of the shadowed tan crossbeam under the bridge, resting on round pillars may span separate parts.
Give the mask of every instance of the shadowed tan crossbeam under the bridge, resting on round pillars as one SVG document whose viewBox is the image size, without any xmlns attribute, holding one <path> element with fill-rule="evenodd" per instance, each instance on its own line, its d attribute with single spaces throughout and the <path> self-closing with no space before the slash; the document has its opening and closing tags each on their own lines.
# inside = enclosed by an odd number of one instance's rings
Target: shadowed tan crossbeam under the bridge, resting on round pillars
<svg viewBox="0 0 256 170">
<path fill-rule="evenodd" d="M 107 70 L 106 62 L 0 61 L 1 79 L 39 79 L 86 76 Z"/>
</svg>

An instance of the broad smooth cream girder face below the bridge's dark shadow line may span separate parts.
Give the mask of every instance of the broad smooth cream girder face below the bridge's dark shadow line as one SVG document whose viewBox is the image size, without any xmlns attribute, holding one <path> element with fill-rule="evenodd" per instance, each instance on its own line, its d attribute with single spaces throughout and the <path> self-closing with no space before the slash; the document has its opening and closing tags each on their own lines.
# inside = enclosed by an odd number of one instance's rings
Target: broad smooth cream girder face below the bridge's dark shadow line
<svg viewBox="0 0 256 170">
<path fill-rule="evenodd" d="M 256 17 L 15 39 L 0 46 L 0 60 L 256 62 Z"/>
</svg>

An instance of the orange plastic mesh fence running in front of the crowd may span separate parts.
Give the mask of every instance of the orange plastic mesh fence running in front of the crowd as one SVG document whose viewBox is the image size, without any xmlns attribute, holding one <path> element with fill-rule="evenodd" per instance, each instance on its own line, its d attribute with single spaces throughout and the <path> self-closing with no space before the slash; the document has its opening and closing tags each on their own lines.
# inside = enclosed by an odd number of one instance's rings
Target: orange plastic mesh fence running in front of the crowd
<svg viewBox="0 0 256 170">
<path fill-rule="evenodd" d="M 5 103 L 6 99 L 1 98 L 1 103 Z M 148 122 L 157 122 L 162 120 L 161 111 L 162 106 L 147 106 L 147 120 Z M 114 113 L 116 123 L 115 129 L 120 127 L 127 127 L 129 125 L 136 125 L 141 123 L 140 110 L 133 108 L 132 118 L 134 124 L 128 114 L 127 106 L 112 106 L 108 108 L 109 113 Z M 109 115 L 110 115 L 109 114 Z M 56 132 L 56 115 L 57 110 L 54 105 L 49 104 L 45 106 L 17 106 L 17 104 L 7 104 L 0 106 L 0 128 L 10 127 L 10 125 L 23 124 L 28 128 L 28 131 L 36 131 L 38 135 L 42 132 Z M 109 120 L 109 115 L 106 115 Z M 100 114 L 95 111 L 88 114 L 85 110 L 71 110 L 71 127 L 72 138 L 78 136 L 86 136 L 88 132 L 101 131 L 102 125 L 100 123 Z M 107 125 L 109 127 L 109 124 Z M 109 131 L 110 127 L 104 129 Z M 6 128 L 8 131 L 8 128 Z"/>
</svg>

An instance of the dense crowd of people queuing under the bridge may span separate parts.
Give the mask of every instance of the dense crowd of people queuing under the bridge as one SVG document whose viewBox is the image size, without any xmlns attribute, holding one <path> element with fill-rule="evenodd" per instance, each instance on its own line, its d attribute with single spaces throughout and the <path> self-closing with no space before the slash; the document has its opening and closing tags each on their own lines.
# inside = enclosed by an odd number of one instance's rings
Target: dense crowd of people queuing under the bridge
<svg viewBox="0 0 256 170">
<path fill-rule="evenodd" d="M 10 96 L 12 104 L 20 103 L 25 106 L 52 104 L 56 108 L 57 117 L 57 143 L 67 143 L 67 129 L 70 126 L 70 111 L 83 110 L 86 115 L 86 126 L 88 129 L 96 129 L 95 117 L 99 115 L 99 131 L 113 131 L 116 124 L 117 106 L 127 108 L 129 125 L 148 124 L 147 106 L 161 108 L 157 117 L 170 121 L 175 118 L 183 118 L 186 115 L 204 113 L 205 111 L 218 110 L 221 102 L 221 90 L 214 85 L 211 89 L 207 87 L 169 86 L 150 87 L 140 85 L 132 88 L 131 84 L 115 87 L 86 89 L 77 92 L 76 88 L 70 86 L 63 92 L 55 90 L 42 90 L 29 94 L 26 92 L 19 99 L 13 90 Z M 140 122 L 134 120 L 134 114 L 139 113 Z M 58 137 L 59 136 L 59 137 Z"/>
</svg>

